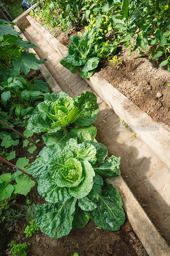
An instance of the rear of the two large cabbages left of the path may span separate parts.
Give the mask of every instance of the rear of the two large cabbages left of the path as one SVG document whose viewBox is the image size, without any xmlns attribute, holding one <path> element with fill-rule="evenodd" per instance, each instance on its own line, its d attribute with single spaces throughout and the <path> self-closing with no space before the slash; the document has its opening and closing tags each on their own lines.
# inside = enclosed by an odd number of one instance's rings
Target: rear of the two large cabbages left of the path
<svg viewBox="0 0 170 256">
<path fill-rule="evenodd" d="M 69 124 L 89 126 L 94 123 L 99 108 L 92 92 L 83 92 L 72 99 L 65 92 L 45 93 L 28 121 L 27 128 L 32 132 L 64 131 Z"/>
</svg>

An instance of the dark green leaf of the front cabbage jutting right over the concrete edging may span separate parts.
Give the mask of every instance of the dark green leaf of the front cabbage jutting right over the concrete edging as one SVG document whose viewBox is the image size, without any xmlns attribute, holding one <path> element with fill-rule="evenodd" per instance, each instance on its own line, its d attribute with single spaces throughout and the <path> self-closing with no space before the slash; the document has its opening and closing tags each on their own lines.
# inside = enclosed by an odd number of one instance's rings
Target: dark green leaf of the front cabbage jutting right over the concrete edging
<svg viewBox="0 0 170 256">
<path fill-rule="evenodd" d="M 119 164 L 120 157 L 111 156 L 100 167 L 96 166 L 94 171 L 102 177 L 115 177 L 120 174 Z"/>
</svg>

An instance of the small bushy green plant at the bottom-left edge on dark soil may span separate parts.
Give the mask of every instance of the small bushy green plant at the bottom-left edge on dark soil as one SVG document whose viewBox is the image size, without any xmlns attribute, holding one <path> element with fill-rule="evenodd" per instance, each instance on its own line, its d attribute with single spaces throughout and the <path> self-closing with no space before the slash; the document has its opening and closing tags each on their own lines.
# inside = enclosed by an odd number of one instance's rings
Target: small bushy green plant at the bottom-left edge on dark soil
<svg viewBox="0 0 170 256">
<path fill-rule="evenodd" d="M 30 245 L 29 243 L 26 244 L 26 243 L 19 243 L 19 244 L 16 244 L 16 241 L 12 241 L 10 246 L 12 247 L 11 249 L 9 249 L 9 252 L 12 253 L 12 255 L 14 256 L 17 256 L 17 255 L 20 255 L 20 256 L 25 256 L 26 255 L 26 251 L 28 249 L 28 245 Z"/>
</svg>

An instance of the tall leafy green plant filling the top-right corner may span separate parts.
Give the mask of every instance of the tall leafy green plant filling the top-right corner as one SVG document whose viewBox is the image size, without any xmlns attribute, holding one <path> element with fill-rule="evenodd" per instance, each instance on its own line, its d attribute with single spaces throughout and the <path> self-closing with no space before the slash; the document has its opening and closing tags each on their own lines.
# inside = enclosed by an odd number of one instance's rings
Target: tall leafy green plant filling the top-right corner
<svg viewBox="0 0 170 256">
<path fill-rule="evenodd" d="M 163 1 L 149 1 L 144 4 L 138 1 L 124 0 L 121 9 L 112 15 L 113 27 L 120 42 L 130 46 L 128 56 L 137 51 L 142 56 L 147 45 L 152 46 L 150 57 L 153 60 L 165 54 L 166 60 L 159 66 L 168 66 L 170 72 L 169 52 L 169 6 Z"/>
</svg>

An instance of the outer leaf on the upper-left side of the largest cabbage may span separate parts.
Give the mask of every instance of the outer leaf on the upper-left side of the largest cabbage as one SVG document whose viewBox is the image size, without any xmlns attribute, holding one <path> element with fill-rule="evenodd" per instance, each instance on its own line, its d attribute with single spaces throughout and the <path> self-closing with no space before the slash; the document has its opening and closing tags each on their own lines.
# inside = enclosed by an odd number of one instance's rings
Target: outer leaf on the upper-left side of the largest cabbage
<svg viewBox="0 0 170 256">
<path fill-rule="evenodd" d="M 44 147 L 37 156 L 36 160 L 30 165 L 29 173 L 38 182 L 41 175 L 47 171 L 48 161 L 54 151 L 50 148 Z M 42 176 L 43 177 L 43 176 Z"/>
</svg>

